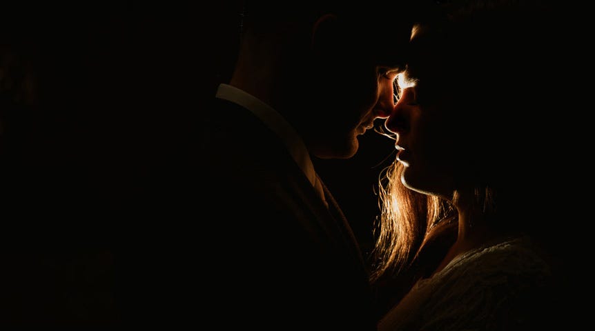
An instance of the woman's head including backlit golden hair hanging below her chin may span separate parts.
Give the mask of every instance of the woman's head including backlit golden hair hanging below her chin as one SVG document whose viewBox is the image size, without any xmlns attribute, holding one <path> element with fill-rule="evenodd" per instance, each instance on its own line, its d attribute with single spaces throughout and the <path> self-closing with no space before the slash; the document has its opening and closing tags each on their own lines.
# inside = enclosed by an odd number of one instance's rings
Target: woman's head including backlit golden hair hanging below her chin
<svg viewBox="0 0 595 331">
<path fill-rule="evenodd" d="M 531 197 L 527 189 L 546 187 L 540 168 L 560 143 L 547 136 L 551 114 L 564 102 L 556 78 L 567 36 L 553 8 L 478 0 L 436 9 L 412 31 L 407 66 L 396 80 L 399 99 L 385 123 L 399 161 L 382 183 L 378 248 L 384 260 L 401 264 L 457 209 L 524 227 L 503 219 L 518 214 L 518 202 Z"/>
</svg>

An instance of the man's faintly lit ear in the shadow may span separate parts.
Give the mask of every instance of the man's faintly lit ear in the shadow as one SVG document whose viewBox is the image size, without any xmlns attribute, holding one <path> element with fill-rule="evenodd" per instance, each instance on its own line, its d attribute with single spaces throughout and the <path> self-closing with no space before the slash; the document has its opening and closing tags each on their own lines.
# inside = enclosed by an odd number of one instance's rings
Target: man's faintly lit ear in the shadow
<svg viewBox="0 0 595 331">
<path fill-rule="evenodd" d="M 323 57 L 332 56 L 340 43 L 339 20 L 335 14 L 324 14 L 312 27 L 312 50 Z"/>
</svg>

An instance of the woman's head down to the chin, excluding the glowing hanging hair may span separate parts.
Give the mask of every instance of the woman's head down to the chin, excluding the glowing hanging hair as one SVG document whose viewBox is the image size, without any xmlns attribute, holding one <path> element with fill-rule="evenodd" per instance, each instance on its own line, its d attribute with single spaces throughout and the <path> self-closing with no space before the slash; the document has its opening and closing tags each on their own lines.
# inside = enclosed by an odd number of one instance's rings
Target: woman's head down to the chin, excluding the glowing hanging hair
<svg viewBox="0 0 595 331">
<path fill-rule="evenodd" d="M 475 2 L 413 30 L 405 84 L 386 122 L 398 134 L 404 185 L 446 199 L 505 188 L 518 179 L 511 172 L 537 164 L 534 151 L 544 150 L 535 133 L 545 132 L 559 66 L 546 61 L 556 37 L 543 12 Z"/>
</svg>

